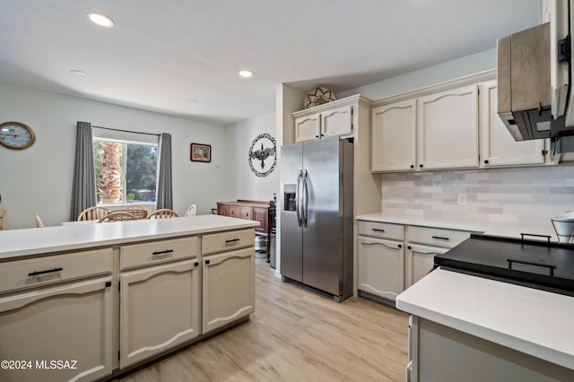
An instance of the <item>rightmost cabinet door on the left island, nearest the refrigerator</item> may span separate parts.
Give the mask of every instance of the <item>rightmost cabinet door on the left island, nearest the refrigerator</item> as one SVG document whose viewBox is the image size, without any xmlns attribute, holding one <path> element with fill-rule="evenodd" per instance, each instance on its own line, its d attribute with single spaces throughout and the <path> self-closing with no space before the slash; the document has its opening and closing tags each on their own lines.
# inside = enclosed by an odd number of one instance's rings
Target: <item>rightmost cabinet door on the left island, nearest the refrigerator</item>
<svg viewBox="0 0 574 382">
<path fill-rule="evenodd" d="M 203 333 L 255 311 L 253 247 L 206 256 L 203 280 Z"/>
</svg>

